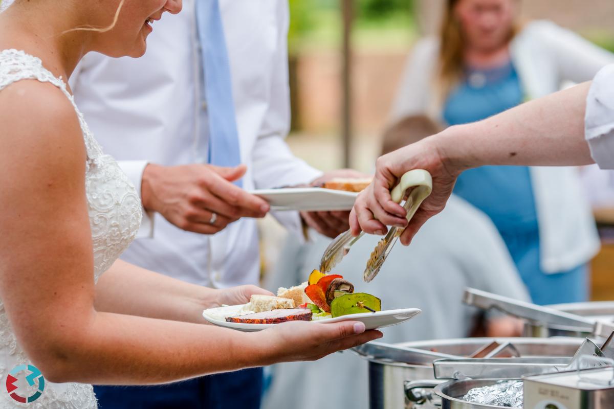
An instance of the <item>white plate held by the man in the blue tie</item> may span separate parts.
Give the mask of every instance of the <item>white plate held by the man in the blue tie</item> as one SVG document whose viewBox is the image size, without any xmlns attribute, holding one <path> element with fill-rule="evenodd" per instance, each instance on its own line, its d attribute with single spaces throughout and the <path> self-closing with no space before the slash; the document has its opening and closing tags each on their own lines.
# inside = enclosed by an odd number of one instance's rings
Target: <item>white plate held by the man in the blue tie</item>
<svg viewBox="0 0 614 409">
<path fill-rule="evenodd" d="M 249 191 L 269 202 L 272 210 L 351 210 L 358 193 L 324 188 L 279 188 Z"/>
</svg>

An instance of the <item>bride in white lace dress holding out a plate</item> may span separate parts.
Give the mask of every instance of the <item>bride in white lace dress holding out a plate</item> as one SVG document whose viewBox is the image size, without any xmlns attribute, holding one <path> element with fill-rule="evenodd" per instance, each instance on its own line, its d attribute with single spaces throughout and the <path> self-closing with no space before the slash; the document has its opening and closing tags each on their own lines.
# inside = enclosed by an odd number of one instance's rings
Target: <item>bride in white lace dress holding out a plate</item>
<svg viewBox="0 0 614 409">
<path fill-rule="evenodd" d="M 204 325 L 203 308 L 266 292 L 203 288 L 117 259 L 139 227 L 139 196 L 66 80 L 90 51 L 141 56 L 152 21 L 180 10 L 181 0 L 16 0 L 0 13 L 0 374 L 34 365 L 46 381 L 32 403 L 1 392 L 2 408 L 95 408 L 89 383 L 313 360 L 381 336 L 351 321 Z"/>
</svg>

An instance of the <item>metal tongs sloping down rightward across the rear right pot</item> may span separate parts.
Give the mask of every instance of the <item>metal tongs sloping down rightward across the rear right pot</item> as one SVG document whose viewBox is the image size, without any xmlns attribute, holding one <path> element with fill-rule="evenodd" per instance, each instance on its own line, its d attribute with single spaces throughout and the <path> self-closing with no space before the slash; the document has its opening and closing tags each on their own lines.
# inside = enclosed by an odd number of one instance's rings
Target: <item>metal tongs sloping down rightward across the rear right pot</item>
<svg viewBox="0 0 614 409">
<path fill-rule="evenodd" d="M 581 329 L 583 332 L 591 332 L 596 337 L 601 338 L 609 337 L 612 331 L 614 331 L 614 324 L 612 323 L 585 318 L 580 315 L 499 296 L 498 294 L 492 294 L 492 292 L 481 291 L 475 288 L 465 289 L 463 302 L 483 310 L 495 308 L 509 315 L 528 319 L 537 324 L 548 324 L 574 330 Z"/>
</svg>

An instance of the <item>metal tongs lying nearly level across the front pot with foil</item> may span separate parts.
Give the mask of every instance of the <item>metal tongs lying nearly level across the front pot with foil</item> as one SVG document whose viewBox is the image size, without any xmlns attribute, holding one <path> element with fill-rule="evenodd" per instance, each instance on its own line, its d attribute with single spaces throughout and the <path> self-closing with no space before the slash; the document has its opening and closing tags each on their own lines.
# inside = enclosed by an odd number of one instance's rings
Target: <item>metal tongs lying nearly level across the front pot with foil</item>
<svg viewBox="0 0 614 409">
<path fill-rule="evenodd" d="M 599 348 L 586 338 L 573 357 L 513 357 L 481 359 L 440 359 L 433 362 L 436 379 L 480 379 L 511 380 L 521 379 L 524 375 L 542 375 L 544 373 L 564 372 L 576 369 L 603 367 L 607 364 L 604 350 L 610 348 L 610 339 Z M 584 359 L 593 356 L 591 362 Z"/>
</svg>

